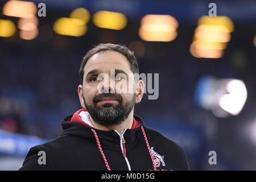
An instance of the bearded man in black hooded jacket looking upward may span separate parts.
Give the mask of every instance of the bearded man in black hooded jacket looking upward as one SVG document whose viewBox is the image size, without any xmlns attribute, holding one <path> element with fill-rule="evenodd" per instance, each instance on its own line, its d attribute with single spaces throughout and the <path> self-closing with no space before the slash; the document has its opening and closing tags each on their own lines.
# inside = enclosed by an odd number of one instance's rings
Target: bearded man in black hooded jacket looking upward
<svg viewBox="0 0 256 182">
<path fill-rule="evenodd" d="M 134 115 L 144 93 L 138 74 L 126 46 L 88 51 L 78 86 L 84 109 L 63 119 L 59 137 L 32 147 L 20 170 L 188 170 L 183 149 Z"/>
</svg>

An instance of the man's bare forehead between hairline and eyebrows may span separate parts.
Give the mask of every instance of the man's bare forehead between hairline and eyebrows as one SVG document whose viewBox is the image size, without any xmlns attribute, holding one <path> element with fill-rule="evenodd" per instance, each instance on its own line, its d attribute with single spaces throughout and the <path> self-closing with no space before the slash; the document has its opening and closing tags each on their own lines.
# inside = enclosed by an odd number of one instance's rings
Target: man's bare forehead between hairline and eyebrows
<svg viewBox="0 0 256 182">
<path fill-rule="evenodd" d="M 84 75 L 92 69 L 100 71 L 110 71 L 111 68 L 122 69 L 126 73 L 131 73 L 130 63 L 126 56 L 116 51 L 98 52 L 87 61 L 84 67 Z"/>
</svg>

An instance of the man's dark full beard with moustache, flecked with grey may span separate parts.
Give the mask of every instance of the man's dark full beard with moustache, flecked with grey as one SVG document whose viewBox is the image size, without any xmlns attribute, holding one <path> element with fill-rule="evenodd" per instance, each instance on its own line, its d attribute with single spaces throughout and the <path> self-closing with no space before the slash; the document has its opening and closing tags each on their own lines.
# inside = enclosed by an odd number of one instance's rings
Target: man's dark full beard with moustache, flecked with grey
<svg viewBox="0 0 256 182">
<path fill-rule="evenodd" d="M 119 104 L 113 106 L 111 103 L 106 103 L 102 107 L 97 105 L 97 102 L 103 97 L 112 97 L 119 101 Z M 131 101 L 126 102 L 123 105 L 122 97 L 117 93 L 102 93 L 93 98 L 93 104 L 87 105 L 84 99 L 85 107 L 88 110 L 90 116 L 94 122 L 102 126 L 120 125 L 123 123 L 131 110 L 133 110 L 135 104 L 136 94 L 134 93 Z"/>
</svg>

